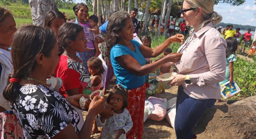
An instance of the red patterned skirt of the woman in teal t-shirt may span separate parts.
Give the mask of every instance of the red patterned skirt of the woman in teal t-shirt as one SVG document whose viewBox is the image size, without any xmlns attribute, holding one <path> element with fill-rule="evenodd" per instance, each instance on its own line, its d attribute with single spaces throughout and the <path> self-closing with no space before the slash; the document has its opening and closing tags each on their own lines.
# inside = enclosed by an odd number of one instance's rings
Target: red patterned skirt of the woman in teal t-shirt
<svg viewBox="0 0 256 139">
<path fill-rule="evenodd" d="M 127 139 L 142 139 L 143 135 L 143 118 L 145 106 L 146 85 L 139 88 L 128 90 L 128 111 L 132 117 L 132 129 L 126 133 Z"/>
</svg>

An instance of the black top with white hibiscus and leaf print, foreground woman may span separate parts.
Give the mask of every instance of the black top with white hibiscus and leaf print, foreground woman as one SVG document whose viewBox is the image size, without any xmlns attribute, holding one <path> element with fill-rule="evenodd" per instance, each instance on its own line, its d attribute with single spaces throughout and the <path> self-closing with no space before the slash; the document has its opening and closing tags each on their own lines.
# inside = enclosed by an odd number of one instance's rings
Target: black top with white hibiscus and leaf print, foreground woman
<svg viewBox="0 0 256 139">
<path fill-rule="evenodd" d="M 25 139 L 53 138 L 70 122 L 79 133 L 78 113 L 52 87 L 23 85 L 16 102 L 11 105 L 18 117 Z"/>
</svg>

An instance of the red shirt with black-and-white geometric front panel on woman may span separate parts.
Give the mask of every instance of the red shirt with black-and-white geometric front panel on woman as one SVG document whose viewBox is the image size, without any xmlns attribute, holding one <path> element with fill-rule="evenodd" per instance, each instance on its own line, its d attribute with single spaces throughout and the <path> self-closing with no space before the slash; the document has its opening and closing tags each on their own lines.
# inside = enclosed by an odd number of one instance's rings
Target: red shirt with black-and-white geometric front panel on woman
<svg viewBox="0 0 256 139">
<path fill-rule="evenodd" d="M 55 69 L 55 77 L 60 77 L 63 81 L 59 92 L 67 97 L 65 91 L 79 88 L 79 94 L 83 89 L 91 88 L 91 79 L 82 62 L 77 62 L 66 55 L 60 56 L 60 62 Z"/>
</svg>

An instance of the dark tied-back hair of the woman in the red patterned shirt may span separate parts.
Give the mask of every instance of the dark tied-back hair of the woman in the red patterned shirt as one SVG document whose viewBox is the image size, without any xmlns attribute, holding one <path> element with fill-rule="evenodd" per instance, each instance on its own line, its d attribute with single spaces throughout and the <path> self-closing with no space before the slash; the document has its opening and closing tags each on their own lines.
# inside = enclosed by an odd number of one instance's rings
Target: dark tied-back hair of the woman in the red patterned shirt
<svg viewBox="0 0 256 139">
<path fill-rule="evenodd" d="M 77 34 L 84 31 L 84 28 L 75 23 L 64 23 L 58 30 L 59 56 L 68 48 L 68 41 L 75 41 Z"/>
</svg>

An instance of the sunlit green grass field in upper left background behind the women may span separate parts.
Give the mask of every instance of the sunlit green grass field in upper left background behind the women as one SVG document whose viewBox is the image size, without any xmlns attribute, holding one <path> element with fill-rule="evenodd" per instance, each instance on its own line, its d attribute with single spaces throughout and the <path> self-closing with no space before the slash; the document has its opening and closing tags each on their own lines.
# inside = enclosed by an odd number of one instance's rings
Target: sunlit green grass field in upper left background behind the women
<svg viewBox="0 0 256 139">
<path fill-rule="evenodd" d="M 16 21 L 17 28 L 27 24 L 33 24 L 29 5 L 18 4 L 18 6 L 16 6 L 16 4 L 11 3 L 10 5 L 4 5 L 3 7 L 11 10 L 14 20 Z M 72 9 L 58 10 L 61 12 L 64 11 L 68 19 L 74 20 L 76 17 Z M 89 12 L 89 14 L 92 15 L 92 12 Z"/>
</svg>

